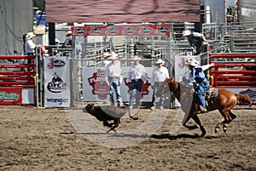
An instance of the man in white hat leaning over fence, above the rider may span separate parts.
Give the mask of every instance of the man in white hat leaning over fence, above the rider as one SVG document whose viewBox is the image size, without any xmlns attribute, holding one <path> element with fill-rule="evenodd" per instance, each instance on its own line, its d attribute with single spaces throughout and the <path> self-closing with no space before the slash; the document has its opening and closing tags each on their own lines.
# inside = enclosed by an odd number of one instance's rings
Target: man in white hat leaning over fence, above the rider
<svg viewBox="0 0 256 171">
<path fill-rule="evenodd" d="M 207 42 L 206 37 L 199 32 L 191 32 L 189 30 L 183 31 L 183 37 L 187 37 L 189 41 L 189 47 L 193 49 L 194 54 L 201 54 L 201 45 Z"/>
</svg>

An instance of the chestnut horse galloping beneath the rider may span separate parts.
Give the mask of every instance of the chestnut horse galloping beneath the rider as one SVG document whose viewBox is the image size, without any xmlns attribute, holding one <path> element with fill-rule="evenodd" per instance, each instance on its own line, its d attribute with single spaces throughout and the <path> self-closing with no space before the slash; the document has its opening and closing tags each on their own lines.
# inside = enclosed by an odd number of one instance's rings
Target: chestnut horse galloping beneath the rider
<svg viewBox="0 0 256 171">
<path fill-rule="evenodd" d="M 201 129 L 201 136 L 207 134 L 206 129 L 202 126 L 201 121 L 197 116 L 199 113 L 196 112 L 197 106 L 195 105 L 194 88 L 189 88 L 187 83 L 178 83 L 172 78 L 167 78 L 166 83 L 168 86 L 163 84 L 156 94 L 166 93 L 168 90 L 172 91 L 177 100 L 180 102 L 182 110 L 185 112 L 185 117 L 183 118 L 183 127 L 190 129 L 199 127 Z M 230 110 L 233 109 L 238 102 L 252 105 L 248 95 L 234 94 L 224 88 L 218 88 L 218 95 L 207 100 L 207 111 L 218 110 L 224 117 L 223 121 L 217 123 L 215 132 L 217 132 L 220 128 L 220 124 L 223 124 L 224 132 L 226 132 L 229 123 L 236 118 L 236 115 Z M 186 123 L 190 118 L 192 118 L 197 125 L 187 125 Z"/>
</svg>

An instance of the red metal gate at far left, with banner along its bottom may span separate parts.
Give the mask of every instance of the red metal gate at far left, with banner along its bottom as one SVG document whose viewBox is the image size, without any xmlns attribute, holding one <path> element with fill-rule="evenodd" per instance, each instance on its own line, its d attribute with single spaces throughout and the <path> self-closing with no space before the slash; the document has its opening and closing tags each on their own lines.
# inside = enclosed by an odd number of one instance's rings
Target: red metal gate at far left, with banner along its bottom
<svg viewBox="0 0 256 171">
<path fill-rule="evenodd" d="M 0 60 L 0 105 L 36 105 L 35 56 L 0 56 Z"/>
</svg>

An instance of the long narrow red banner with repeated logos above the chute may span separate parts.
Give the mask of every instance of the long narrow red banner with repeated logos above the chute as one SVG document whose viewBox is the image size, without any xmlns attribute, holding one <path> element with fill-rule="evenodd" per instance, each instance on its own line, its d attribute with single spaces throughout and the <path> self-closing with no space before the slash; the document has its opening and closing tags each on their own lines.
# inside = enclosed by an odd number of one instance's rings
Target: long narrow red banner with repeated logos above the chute
<svg viewBox="0 0 256 171">
<path fill-rule="evenodd" d="M 73 36 L 154 36 L 171 34 L 171 26 L 73 26 Z"/>
</svg>

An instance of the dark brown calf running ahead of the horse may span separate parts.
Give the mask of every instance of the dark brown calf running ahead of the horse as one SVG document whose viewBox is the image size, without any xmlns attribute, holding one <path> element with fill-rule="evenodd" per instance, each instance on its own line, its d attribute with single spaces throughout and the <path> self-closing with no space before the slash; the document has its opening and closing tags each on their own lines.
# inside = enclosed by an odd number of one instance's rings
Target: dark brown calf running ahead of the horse
<svg viewBox="0 0 256 171">
<path fill-rule="evenodd" d="M 86 105 L 85 110 L 96 117 L 97 120 L 103 122 L 103 125 L 109 127 L 110 130 L 114 130 L 114 128 L 119 126 L 120 118 L 124 117 L 126 111 L 128 111 L 127 108 L 112 105 L 95 106 L 94 104 Z M 138 117 L 132 117 L 130 111 L 128 111 L 128 113 L 129 117 L 133 120 L 138 119 Z M 113 123 L 108 123 L 108 121 L 113 121 Z"/>
</svg>

